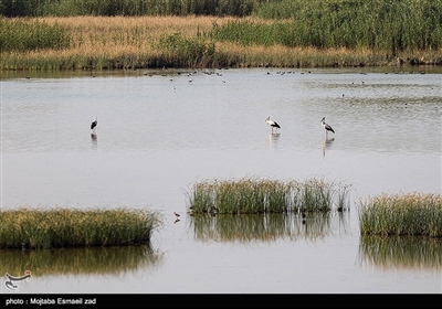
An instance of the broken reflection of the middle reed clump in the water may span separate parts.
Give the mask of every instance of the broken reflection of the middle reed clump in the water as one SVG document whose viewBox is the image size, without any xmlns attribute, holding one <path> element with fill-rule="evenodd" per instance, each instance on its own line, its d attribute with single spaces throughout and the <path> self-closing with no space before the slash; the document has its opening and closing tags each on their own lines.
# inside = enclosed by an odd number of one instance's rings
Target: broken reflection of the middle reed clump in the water
<svg viewBox="0 0 442 309">
<path fill-rule="evenodd" d="M 349 231 L 348 212 L 302 214 L 193 214 L 188 220 L 198 241 L 274 242 L 317 241 Z"/>
</svg>

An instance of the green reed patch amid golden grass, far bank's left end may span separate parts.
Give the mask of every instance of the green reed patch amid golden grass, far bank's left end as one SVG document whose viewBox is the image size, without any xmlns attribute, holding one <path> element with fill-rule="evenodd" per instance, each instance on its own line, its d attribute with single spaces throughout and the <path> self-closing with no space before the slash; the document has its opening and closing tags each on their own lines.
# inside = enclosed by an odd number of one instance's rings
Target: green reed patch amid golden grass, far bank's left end
<svg viewBox="0 0 442 309">
<path fill-rule="evenodd" d="M 44 21 L 24 21 L 0 18 L 0 50 L 34 51 L 70 46 L 67 32 L 59 24 L 50 25 Z"/>
</svg>

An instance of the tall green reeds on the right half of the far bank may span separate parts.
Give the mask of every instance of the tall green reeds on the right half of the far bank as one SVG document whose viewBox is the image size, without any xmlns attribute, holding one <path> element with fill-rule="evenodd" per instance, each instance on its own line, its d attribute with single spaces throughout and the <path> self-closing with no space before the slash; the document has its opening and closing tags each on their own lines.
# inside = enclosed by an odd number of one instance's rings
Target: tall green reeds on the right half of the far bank
<svg viewBox="0 0 442 309">
<path fill-rule="evenodd" d="M 265 1 L 252 15 L 273 21 L 215 25 L 212 38 L 244 45 L 371 49 L 391 56 L 442 46 L 441 1 Z"/>
</svg>

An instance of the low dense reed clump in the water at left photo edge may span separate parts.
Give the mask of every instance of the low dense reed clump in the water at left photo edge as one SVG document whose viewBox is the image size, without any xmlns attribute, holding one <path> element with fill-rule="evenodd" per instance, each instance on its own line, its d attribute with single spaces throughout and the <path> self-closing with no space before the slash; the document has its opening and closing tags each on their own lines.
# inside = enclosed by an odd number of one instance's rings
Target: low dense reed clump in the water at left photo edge
<svg viewBox="0 0 442 309">
<path fill-rule="evenodd" d="M 160 220 L 147 210 L 19 209 L 0 212 L 0 248 L 149 244 Z"/>
</svg>

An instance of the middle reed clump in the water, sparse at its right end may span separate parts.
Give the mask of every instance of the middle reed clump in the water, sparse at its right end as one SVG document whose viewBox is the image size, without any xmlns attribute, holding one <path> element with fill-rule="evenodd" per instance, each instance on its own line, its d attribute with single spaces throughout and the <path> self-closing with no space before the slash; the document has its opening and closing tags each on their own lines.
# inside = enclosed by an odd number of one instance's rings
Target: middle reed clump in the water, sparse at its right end
<svg viewBox="0 0 442 309">
<path fill-rule="evenodd" d="M 349 185 L 323 179 L 280 181 L 261 178 L 206 180 L 188 193 L 191 213 L 265 214 L 349 210 Z"/>
</svg>

